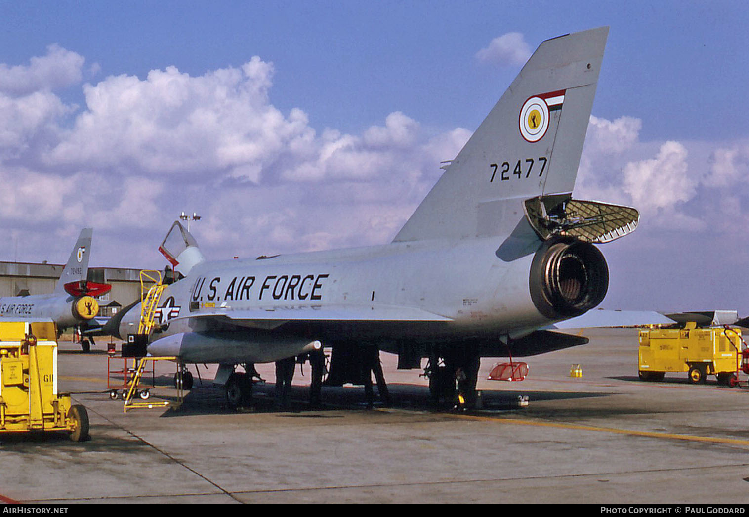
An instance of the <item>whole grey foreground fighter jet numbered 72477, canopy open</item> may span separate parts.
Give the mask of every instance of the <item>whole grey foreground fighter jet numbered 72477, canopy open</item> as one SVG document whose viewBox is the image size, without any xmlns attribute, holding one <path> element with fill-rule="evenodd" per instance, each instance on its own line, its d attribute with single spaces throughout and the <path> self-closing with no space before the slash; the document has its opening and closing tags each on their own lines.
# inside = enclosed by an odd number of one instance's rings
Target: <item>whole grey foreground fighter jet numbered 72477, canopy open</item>
<svg viewBox="0 0 749 517">
<path fill-rule="evenodd" d="M 571 194 L 607 34 L 543 42 L 390 244 L 207 261 L 175 223 L 160 249 L 181 279 L 148 352 L 219 363 L 216 381 L 240 393 L 237 365 L 377 347 L 400 367 L 462 369 L 473 393 L 481 357 L 587 342 L 548 329 L 603 300 L 595 244 L 639 220 Z M 127 336 L 139 315 L 111 324 Z"/>
</svg>

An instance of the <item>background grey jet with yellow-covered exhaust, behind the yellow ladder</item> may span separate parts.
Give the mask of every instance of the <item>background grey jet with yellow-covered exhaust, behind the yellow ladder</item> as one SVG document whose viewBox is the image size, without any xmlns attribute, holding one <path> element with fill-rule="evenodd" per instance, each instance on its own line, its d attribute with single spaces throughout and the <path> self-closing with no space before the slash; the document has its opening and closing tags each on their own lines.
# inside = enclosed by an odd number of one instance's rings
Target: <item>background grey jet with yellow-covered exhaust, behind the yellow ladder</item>
<svg viewBox="0 0 749 517">
<path fill-rule="evenodd" d="M 93 229 L 81 230 L 70 258 L 49 294 L 25 294 L 0 297 L 0 318 L 45 319 L 55 322 L 58 332 L 70 327 L 88 330 L 100 325 L 94 320 L 99 312 L 96 298 L 109 291 L 111 285 L 88 280 L 88 256 L 91 254 Z M 82 338 L 83 351 L 89 351 L 91 342 Z"/>
</svg>

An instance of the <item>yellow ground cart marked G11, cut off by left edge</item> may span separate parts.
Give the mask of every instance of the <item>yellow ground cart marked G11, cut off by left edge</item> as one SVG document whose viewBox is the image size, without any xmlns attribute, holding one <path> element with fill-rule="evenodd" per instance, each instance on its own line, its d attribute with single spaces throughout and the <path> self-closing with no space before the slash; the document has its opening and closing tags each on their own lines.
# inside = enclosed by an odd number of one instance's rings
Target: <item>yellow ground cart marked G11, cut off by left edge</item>
<svg viewBox="0 0 749 517">
<path fill-rule="evenodd" d="M 58 393 L 52 321 L 0 321 L 0 433 L 68 432 L 88 439 L 88 413 Z"/>
</svg>

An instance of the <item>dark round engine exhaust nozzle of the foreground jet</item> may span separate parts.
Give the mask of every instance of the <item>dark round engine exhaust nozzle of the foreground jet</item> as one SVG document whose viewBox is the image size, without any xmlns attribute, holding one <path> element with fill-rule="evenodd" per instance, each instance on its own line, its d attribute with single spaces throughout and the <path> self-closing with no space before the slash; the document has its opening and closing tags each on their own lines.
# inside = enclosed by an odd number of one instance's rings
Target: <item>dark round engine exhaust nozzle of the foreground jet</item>
<svg viewBox="0 0 749 517">
<path fill-rule="evenodd" d="M 571 238 L 552 239 L 533 257 L 530 295 L 547 318 L 571 318 L 601 303 L 608 281 L 606 260 L 595 246 Z"/>
</svg>

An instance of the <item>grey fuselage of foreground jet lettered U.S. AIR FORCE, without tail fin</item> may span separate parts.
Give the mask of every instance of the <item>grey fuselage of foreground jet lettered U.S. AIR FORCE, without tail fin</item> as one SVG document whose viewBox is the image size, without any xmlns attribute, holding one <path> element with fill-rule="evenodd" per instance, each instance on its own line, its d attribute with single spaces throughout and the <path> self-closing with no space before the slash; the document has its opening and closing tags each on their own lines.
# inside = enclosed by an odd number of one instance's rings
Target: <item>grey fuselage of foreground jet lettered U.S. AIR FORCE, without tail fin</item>
<svg viewBox="0 0 749 517">
<path fill-rule="evenodd" d="M 236 354 L 233 362 L 240 363 L 276 360 L 255 357 L 254 351 L 285 339 L 300 345 L 313 339 L 322 345 L 361 341 L 385 350 L 402 342 L 485 339 L 503 347 L 502 337 L 518 338 L 566 317 L 540 312 L 530 292 L 541 241 L 507 259 L 500 258 L 497 244 L 505 240 L 418 241 L 204 261 L 163 291 L 156 314 L 162 330 L 153 339 L 207 331 L 211 337 L 149 351 L 179 354 L 187 362 L 208 357 L 216 362 L 217 356 L 228 361 Z M 139 315 L 136 306 L 124 316 L 121 336 L 135 332 Z M 216 323 L 216 315 L 225 318 Z M 216 332 L 233 352 L 208 345 Z"/>
</svg>

